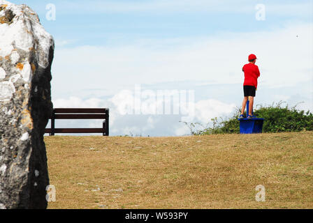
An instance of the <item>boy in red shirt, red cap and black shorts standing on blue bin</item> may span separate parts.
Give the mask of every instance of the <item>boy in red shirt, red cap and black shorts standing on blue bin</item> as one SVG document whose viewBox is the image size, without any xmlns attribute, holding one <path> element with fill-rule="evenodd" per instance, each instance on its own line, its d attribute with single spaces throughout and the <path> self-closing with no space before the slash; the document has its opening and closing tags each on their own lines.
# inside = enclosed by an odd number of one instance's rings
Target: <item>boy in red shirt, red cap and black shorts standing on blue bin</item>
<svg viewBox="0 0 313 223">
<path fill-rule="evenodd" d="M 247 114 L 247 118 L 252 118 L 254 97 L 256 96 L 256 89 L 258 89 L 258 78 L 260 77 L 259 67 L 256 66 L 255 63 L 256 55 L 251 54 L 249 55 L 249 63 L 247 63 L 242 68 L 242 71 L 245 72 L 245 83 L 243 84 L 245 98 L 242 102 L 242 109 L 239 118 L 245 118 L 243 114 L 245 113 L 245 107 L 249 98 L 249 114 Z"/>
</svg>

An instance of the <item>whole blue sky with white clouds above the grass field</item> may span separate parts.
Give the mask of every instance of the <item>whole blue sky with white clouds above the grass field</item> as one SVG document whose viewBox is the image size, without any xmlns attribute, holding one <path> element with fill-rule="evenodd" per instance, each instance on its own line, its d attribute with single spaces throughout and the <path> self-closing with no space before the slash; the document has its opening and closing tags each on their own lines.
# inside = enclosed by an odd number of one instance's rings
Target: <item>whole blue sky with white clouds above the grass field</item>
<svg viewBox="0 0 313 223">
<path fill-rule="evenodd" d="M 122 115 L 118 107 L 133 100 L 136 85 L 194 91 L 194 122 L 231 116 L 250 53 L 261 70 L 256 104 L 303 102 L 299 109 L 313 110 L 311 0 L 12 2 L 27 3 L 54 36 L 54 107 L 110 107 L 113 135 L 189 133 L 180 115 Z M 56 20 L 46 19 L 48 3 Z M 256 20 L 258 4 L 265 20 Z"/>
</svg>

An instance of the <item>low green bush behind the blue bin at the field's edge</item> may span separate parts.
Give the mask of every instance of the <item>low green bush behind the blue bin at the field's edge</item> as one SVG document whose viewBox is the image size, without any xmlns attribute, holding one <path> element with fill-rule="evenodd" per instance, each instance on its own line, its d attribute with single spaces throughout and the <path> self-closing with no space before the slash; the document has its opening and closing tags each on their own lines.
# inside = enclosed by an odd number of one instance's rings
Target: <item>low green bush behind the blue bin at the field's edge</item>
<svg viewBox="0 0 313 223">
<path fill-rule="evenodd" d="M 263 107 L 257 105 L 254 109 L 254 115 L 259 118 L 264 118 L 263 132 L 300 132 L 313 130 L 313 114 L 310 111 L 299 111 L 295 107 L 282 107 L 284 102 L 278 102 L 276 105 L 272 103 L 270 106 Z M 235 114 L 228 120 L 223 118 L 213 118 L 212 127 L 208 128 L 201 123 L 185 123 L 191 130 L 191 134 L 239 134 L 240 109 L 236 109 Z M 197 126 L 202 128 L 198 130 Z"/>
</svg>

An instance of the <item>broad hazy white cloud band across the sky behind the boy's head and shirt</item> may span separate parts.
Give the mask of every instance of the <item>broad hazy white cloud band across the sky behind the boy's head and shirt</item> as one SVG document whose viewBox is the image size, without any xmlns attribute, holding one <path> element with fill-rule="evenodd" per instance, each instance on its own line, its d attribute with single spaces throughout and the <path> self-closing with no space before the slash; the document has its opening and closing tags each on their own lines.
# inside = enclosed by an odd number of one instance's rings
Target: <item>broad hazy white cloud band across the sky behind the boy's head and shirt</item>
<svg viewBox="0 0 313 223">
<path fill-rule="evenodd" d="M 68 83 L 80 96 L 85 89 L 103 89 L 102 95 L 114 95 L 135 84 L 191 79 L 242 83 L 242 66 L 252 52 L 259 57 L 260 88 L 293 86 L 312 79 L 312 29 L 312 24 L 294 24 L 273 31 L 219 33 L 207 38 L 57 49 L 52 94 L 67 93 Z"/>
</svg>

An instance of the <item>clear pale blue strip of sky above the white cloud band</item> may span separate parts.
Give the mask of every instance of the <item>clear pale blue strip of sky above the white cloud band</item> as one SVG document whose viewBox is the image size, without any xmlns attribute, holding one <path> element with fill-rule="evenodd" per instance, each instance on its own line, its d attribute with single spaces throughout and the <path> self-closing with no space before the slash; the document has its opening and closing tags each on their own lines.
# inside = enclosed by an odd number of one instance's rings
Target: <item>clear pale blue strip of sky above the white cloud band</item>
<svg viewBox="0 0 313 223">
<path fill-rule="evenodd" d="M 25 1 L 13 1 L 25 3 Z M 312 22 L 312 1 L 27 1 L 56 40 L 72 45 L 122 44 L 138 38 L 210 36 L 219 32 L 267 31 L 286 22 Z M 54 3 L 57 20 L 48 21 L 45 6 Z M 256 4 L 267 19 L 255 19 Z M 311 6 L 311 7 L 310 7 Z"/>
</svg>

